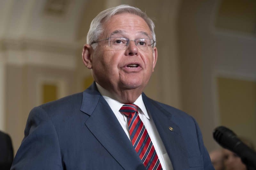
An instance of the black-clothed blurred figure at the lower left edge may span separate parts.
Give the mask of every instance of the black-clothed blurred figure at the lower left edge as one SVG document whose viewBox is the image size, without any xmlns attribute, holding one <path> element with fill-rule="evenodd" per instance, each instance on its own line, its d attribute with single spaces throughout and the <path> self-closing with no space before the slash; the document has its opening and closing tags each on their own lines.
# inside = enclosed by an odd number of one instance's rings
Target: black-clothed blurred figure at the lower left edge
<svg viewBox="0 0 256 170">
<path fill-rule="evenodd" d="M 12 140 L 8 134 L 0 131 L 0 169 L 10 170 L 13 161 Z"/>
</svg>

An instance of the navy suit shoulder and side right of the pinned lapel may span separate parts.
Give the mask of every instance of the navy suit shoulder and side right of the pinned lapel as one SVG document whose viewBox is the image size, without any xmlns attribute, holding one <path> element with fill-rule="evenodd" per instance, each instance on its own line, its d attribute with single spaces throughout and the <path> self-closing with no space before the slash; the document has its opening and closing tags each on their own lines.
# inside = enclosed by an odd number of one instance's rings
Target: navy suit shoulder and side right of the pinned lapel
<svg viewBox="0 0 256 170">
<path fill-rule="evenodd" d="M 179 127 L 180 135 L 183 137 L 185 142 L 185 147 L 187 148 L 188 153 L 192 153 L 192 156 L 189 156 L 191 164 L 196 165 L 199 162 L 201 166 L 204 166 L 204 169 L 213 169 L 196 120 L 177 108 L 157 102 L 148 97 L 146 100 L 149 104 L 153 104 L 158 108 L 158 110 L 164 112 L 165 115 L 167 115 L 170 120 Z"/>
</svg>

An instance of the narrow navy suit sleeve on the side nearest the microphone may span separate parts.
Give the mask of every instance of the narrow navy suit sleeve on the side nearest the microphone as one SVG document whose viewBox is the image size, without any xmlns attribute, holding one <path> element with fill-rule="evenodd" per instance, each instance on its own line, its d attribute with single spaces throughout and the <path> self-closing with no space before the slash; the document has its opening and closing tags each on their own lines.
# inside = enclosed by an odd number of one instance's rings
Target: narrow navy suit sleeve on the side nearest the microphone
<svg viewBox="0 0 256 170">
<path fill-rule="evenodd" d="M 196 120 L 193 117 L 192 117 L 192 119 L 194 120 L 195 126 L 196 126 L 197 139 L 198 139 L 199 149 L 202 154 L 202 158 L 203 158 L 203 162 L 204 162 L 204 169 L 214 170 L 209 153 L 204 146 L 201 130 L 200 130 Z"/>
</svg>

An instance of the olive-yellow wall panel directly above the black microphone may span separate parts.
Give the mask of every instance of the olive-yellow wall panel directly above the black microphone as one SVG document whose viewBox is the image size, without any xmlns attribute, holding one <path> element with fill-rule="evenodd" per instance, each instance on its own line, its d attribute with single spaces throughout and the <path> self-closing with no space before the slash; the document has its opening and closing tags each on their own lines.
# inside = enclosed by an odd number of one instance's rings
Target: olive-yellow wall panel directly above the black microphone
<svg viewBox="0 0 256 170">
<path fill-rule="evenodd" d="M 256 82 L 217 78 L 220 122 L 256 144 Z"/>
</svg>

